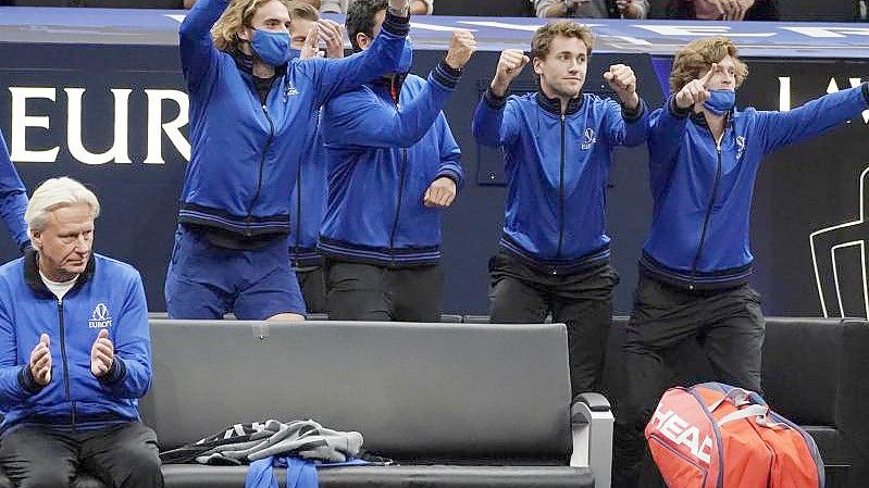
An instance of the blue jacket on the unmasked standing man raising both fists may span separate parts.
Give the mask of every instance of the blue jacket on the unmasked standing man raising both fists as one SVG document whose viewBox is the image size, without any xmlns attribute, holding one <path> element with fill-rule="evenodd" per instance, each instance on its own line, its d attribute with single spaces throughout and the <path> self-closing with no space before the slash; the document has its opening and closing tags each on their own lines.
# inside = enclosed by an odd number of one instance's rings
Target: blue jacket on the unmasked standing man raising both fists
<svg viewBox="0 0 869 488">
<path fill-rule="evenodd" d="M 542 92 L 505 99 L 486 90 L 472 130 L 505 154 L 501 248 L 550 274 L 607 262 L 610 152 L 645 142 L 647 112 L 643 100 L 625 113 L 613 100 L 583 93 L 562 114 L 560 101 Z"/>
</svg>

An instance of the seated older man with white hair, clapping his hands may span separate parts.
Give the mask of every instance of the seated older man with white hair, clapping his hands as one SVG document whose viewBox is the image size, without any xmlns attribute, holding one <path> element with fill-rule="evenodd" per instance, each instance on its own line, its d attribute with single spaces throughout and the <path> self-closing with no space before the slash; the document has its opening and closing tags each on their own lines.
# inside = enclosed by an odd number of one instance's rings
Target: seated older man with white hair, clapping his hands
<svg viewBox="0 0 869 488">
<path fill-rule="evenodd" d="M 97 197 L 53 178 L 24 218 L 33 249 L 0 267 L 0 466 L 16 487 L 162 487 L 157 437 L 139 421 L 151 384 L 139 273 L 92 252 Z"/>
</svg>

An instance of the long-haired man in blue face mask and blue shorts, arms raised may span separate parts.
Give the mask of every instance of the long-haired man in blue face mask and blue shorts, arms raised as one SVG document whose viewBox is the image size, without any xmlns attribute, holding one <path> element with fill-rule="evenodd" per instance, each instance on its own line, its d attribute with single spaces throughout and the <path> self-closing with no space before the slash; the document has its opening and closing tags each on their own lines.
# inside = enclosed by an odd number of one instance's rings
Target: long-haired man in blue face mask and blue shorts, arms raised
<svg viewBox="0 0 869 488">
<path fill-rule="evenodd" d="M 199 0 L 181 26 L 191 159 L 165 285 L 173 318 L 234 312 L 286 321 L 306 313 L 287 233 L 311 114 L 396 70 L 409 14 L 407 0 L 389 0 L 370 50 L 300 60 L 290 49 L 290 8 L 286 0 Z M 302 51 L 313 55 L 320 36 L 328 45 L 335 35 L 312 28 Z"/>
</svg>

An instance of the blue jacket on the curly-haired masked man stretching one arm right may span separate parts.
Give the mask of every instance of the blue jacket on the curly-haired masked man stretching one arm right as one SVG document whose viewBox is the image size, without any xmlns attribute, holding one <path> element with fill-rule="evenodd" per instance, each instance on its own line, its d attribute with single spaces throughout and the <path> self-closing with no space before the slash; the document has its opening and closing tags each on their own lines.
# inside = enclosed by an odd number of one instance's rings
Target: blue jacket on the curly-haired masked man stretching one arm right
<svg viewBox="0 0 869 488">
<path fill-rule="evenodd" d="M 651 114 L 651 230 L 641 271 L 687 289 L 747 281 L 754 256 L 748 216 L 761 159 L 821 134 L 867 109 L 869 85 L 827 95 L 789 112 L 747 108 L 729 114 L 720 146 L 700 115 L 675 99 Z"/>
</svg>

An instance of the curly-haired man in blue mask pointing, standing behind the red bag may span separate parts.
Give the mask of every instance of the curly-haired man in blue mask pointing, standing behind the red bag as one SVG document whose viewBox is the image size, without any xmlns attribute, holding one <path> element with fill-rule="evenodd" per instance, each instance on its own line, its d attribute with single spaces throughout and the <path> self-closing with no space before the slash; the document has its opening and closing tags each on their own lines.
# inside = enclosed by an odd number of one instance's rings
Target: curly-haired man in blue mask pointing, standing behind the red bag
<svg viewBox="0 0 869 488">
<path fill-rule="evenodd" d="M 669 386 L 666 372 L 682 345 L 703 346 L 717 376 L 709 379 L 760 392 L 765 323 L 760 296 L 747 283 L 758 166 L 767 153 L 824 133 L 869 105 L 869 85 L 862 84 L 789 112 L 737 110 L 735 92 L 747 75 L 730 39 L 695 40 L 673 62 L 675 95 L 651 114 L 655 204 L 624 343 L 629 393 L 619 402 L 613 487 L 636 481 L 643 428 Z M 642 486 L 659 484 L 645 479 Z"/>
</svg>

